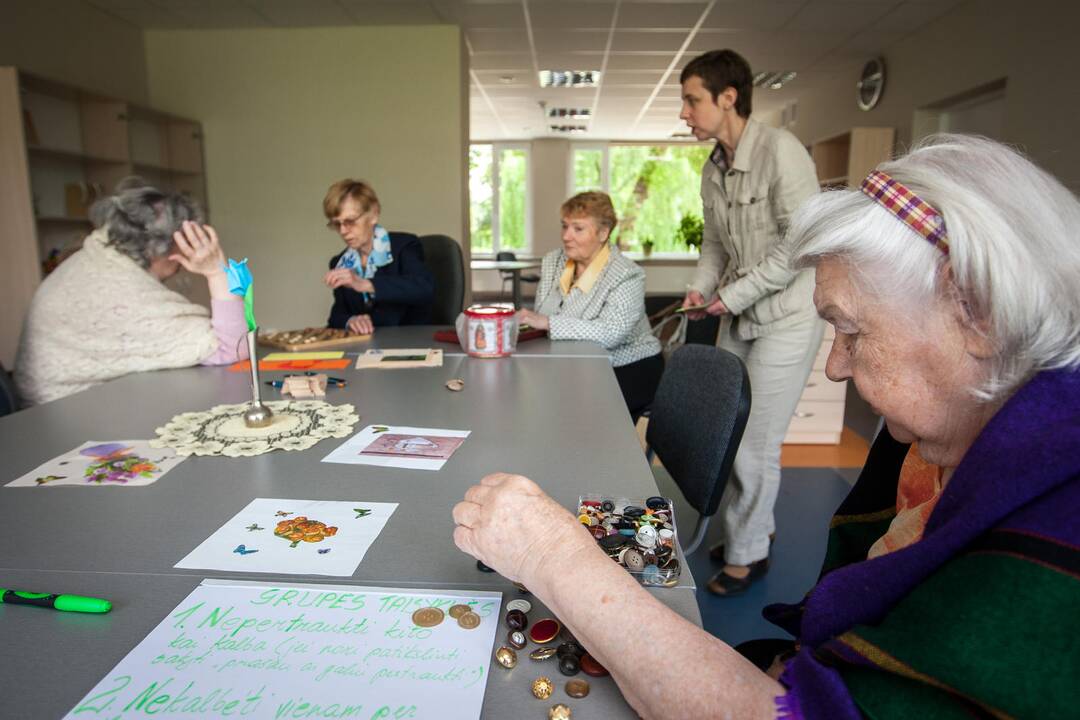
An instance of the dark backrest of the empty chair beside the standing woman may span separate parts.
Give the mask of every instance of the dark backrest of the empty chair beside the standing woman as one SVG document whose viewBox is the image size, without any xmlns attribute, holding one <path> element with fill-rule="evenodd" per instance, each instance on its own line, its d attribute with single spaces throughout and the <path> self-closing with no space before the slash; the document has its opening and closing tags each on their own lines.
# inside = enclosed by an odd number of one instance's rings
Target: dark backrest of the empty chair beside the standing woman
<svg viewBox="0 0 1080 720">
<path fill-rule="evenodd" d="M 716 514 L 750 417 L 750 377 L 738 356 L 711 345 L 672 353 L 657 389 L 645 439 L 687 502 L 698 526 L 690 555 Z"/>
</svg>

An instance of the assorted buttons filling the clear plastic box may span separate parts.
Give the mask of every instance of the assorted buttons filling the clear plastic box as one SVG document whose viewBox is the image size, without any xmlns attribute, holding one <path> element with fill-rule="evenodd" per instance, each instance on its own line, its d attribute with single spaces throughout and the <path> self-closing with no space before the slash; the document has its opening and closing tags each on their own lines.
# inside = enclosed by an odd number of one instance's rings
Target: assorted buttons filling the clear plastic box
<svg viewBox="0 0 1080 720">
<path fill-rule="evenodd" d="M 632 501 L 625 498 L 582 495 L 578 519 L 612 560 L 644 585 L 678 584 L 675 553 L 675 508 L 659 495 Z"/>
</svg>

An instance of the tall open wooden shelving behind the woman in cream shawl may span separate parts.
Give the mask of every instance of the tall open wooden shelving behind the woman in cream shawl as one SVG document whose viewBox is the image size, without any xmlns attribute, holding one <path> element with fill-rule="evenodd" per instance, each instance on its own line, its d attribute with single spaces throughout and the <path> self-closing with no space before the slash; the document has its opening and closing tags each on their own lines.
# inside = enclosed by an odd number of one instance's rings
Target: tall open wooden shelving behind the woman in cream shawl
<svg viewBox="0 0 1080 720">
<path fill-rule="evenodd" d="M 87 210 L 139 175 L 206 206 L 202 126 L 0 67 L 0 363 L 11 368 L 41 279 L 92 229 Z"/>
</svg>

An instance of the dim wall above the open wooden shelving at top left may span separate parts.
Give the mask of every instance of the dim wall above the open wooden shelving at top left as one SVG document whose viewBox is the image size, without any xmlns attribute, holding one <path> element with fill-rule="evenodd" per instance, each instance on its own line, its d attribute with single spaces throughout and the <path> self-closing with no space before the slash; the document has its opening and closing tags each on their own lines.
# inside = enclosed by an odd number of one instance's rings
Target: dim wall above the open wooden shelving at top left
<svg viewBox="0 0 1080 720">
<path fill-rule="evenodd" d="M 143 31 L 82 0 L 4 2 L 0 65 L 145 104 Z"/>
</svg>

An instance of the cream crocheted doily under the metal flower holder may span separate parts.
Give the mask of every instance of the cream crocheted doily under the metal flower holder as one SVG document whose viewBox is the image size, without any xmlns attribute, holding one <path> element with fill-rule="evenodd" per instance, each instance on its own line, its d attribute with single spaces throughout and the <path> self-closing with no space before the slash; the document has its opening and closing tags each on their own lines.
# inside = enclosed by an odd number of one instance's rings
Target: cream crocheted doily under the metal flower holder
<svg viewBox="0 0 1080 720">
<path fill-rule="evenodd" d="M 177 454 L 241 458 L 271 450 L 306 450 L 326 437 L 345 437 L 360 417 L 352 405 L 322 400 L 271 400 L 267 427 L 244 424 L 248 403 L 218 405 L 202 412 L 183 412 L 158 427 L 150 440 L 156 448 L 173 448 Z"/>
</svg>

